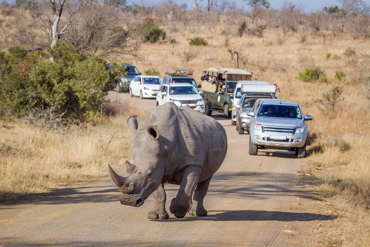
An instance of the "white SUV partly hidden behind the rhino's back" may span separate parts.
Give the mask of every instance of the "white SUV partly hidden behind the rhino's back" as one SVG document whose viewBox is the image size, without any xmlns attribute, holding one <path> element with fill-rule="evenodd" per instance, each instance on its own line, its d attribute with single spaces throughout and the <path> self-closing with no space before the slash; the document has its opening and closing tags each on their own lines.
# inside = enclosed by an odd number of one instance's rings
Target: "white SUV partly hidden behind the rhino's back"
<svg viewBox="0 0 370 247">
<path fill-rule="evenodd" d="M 204 113 L 204 100 L 198 90 L 190 83 L 164 83 L 157 94 L 157 106 L 173 102 L 178 107 L 189 105 L 192 109 Z"/>
</svg>

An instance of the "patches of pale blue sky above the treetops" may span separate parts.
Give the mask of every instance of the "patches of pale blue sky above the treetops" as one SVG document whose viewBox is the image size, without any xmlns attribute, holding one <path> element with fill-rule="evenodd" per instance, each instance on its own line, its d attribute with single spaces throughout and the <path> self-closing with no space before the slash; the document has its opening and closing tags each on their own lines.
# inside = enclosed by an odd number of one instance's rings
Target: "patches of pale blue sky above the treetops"
<svg viewBox="0 0 370 247">
<path fill-rule="evenodd" d="M 156 3 L 163 2 L 164 0 L 127 0 L 130 4 L 135 3 L 144 3 L 145 5 L 152 5 Z M 186 3 L 188 8 L 194 8 L 194 0 L 174 0 L 178 4 Z M 197 0 L 198 1 L 198 0 Z M 221 2 L 222 0 L 215 0 Z M 243 6 L 244 9 L 247 9 L 248 5 L 243 0 L 229 0 L 230 2 L 235 2 L 237 5 Z M 369 2 L 370 0 L 365 0 Z M 202 0 L 199 6 L 205 7 L 207 5 L 207 0 Z M 285 2 L 293 2 L 297 6 L 301 6 L 303 11 L 311 12 L 318 9 L 323 9 L 325 6 L 342 6 L 339 0 L 269 0 L 271 8 L 280 9 Z"/>
</svg>

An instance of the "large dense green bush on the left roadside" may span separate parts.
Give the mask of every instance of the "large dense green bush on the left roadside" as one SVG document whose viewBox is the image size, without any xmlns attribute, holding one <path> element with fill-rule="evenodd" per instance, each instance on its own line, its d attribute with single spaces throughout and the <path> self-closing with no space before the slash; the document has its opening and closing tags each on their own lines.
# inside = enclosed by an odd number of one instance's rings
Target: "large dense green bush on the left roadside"
<svg viewBox="0 0 370 247">
<path fill-rule="evenodd" d="M 9 48 L 9 53 L 0 53 L 0 66 L 8 69 L 3 66 L 7 61 L 13 68 L 1 78 L 0 105 L 18 117 L 35 109 L 53 109 L 55 116 L 71 121 L 99 115 L 110 80 L 102 58 L 61 43 L 48 51 L 53 62 L 37 52 L 20 59 L 24 52 L 19 47 Z"/>
</svg>

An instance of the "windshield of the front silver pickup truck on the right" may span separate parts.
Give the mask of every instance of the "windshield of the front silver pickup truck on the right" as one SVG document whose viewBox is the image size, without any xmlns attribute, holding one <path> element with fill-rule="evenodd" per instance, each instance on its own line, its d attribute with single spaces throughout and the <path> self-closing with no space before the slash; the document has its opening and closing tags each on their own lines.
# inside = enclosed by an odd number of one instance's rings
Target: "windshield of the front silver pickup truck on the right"
<svg viewBox="0 0 370 247">
<path fill-rule="evenodd" d="M 258 116 L 301 119 L 302 114 L 297 106 L 263 104 Z"/>
</svg>

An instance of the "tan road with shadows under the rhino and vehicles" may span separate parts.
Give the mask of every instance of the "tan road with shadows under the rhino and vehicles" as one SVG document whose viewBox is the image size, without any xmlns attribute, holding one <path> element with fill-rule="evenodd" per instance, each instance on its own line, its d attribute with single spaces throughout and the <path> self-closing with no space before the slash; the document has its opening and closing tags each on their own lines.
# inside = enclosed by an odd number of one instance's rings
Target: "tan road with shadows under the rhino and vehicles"
<svg viewBox="0 0 370 247">
<path fill-rule="evenodd" d="M 110 92 L 150 110 L 155 100 Z M 123 206 L 111 178 L 89 181 L 27 201 L 0 205 L 0 246 L 320 246 L 318 228 L 332 220 L 320 214 L 319 198 L 294 152 L 248 155 L 248 135 L 213 114 L 226 129 L 228 151 L 211 180 L 207 217 L 170 213 L 178 186 L 165 185 L 168 220 L 148 220 L 143 206 Z M 119 171 L 119 169 L 118 169 Z"/>
</svg>

